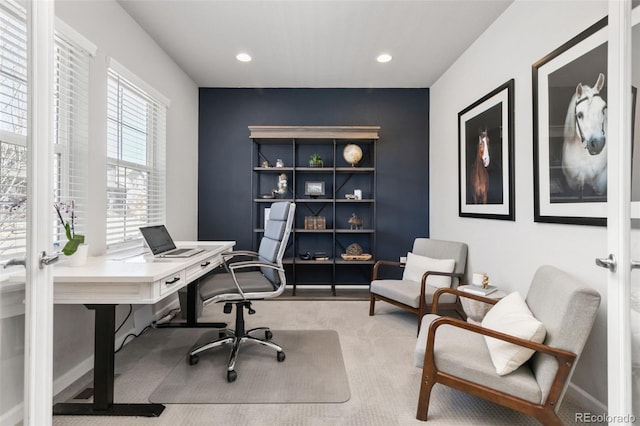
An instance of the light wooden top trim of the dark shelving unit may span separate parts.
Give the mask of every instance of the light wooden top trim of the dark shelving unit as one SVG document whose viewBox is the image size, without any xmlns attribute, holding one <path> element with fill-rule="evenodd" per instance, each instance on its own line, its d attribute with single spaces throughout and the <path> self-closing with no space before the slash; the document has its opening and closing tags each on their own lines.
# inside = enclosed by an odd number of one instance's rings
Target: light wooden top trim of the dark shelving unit
<svg viewBox="0 0 640 426">
<path fill-rule="evenodd" d="M 379 131 L 380 126 L 249 126 L 254 139 L 378 139 Z"/>
</svg>

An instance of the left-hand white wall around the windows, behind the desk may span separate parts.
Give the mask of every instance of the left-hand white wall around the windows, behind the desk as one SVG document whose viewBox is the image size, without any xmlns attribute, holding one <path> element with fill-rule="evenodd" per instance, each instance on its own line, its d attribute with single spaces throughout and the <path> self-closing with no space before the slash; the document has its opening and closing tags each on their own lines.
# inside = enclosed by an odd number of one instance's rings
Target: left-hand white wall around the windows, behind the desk
<svg viewBox="0 0 640 426">
<path fill-rule="evenodd" d="M 176 240 L 197 238 L 198 87 L 115 0 L 56 1 L 56 16 L 97 46 L 91 63 L 89 100 L 89 223 L 93 255 L 105 250 L 106 58 L 112 57 L 170 99 L 167 111 L 167 227 Z M 176 298 L 177 299 L 177 298 Z M 171 299 L 167 303 L 175 303 Z M 163 306 L 155 306 L 155 312 Z M 120 306 L 117 323 L 127 306 Z M 116 343 L 153 319 L 136 306 Z M 133 318 L 136 319 L 134 324 Z M 93 367 L 93 314 L 84 306 L 56 305 L 54 392 Z"/>
</svg>

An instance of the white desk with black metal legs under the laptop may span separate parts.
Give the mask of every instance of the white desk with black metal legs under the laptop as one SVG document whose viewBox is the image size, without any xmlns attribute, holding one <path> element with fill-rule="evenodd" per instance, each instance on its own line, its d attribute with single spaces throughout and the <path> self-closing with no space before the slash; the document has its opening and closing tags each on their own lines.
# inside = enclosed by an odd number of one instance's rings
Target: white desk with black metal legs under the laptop
<svg viewBox="0 0 640 426">
<path fill-rule="evenodd" d="M 90 257 L 83 266 L 54 266 L 53 300 L 57 304 L 82 304 L 95 312 L 93 403 L 59 403 L 55 415 L 109 415 L 157 417 L 162 404 L 114 404 L 115 308 L 121 303 L 153 304 L 187 287 L 187 323 L 197 324 L 195 298 L 198 278 L 222 263 L 221 253 L 235 241 L 176 243 L 200 247 L 204 252 L 186 259 L 154 259 L 149 255 Z M 141 249 L 140 249 L 141 250 Z M 224 326 L 224 324 L 204 324 Z"/>
</svg>

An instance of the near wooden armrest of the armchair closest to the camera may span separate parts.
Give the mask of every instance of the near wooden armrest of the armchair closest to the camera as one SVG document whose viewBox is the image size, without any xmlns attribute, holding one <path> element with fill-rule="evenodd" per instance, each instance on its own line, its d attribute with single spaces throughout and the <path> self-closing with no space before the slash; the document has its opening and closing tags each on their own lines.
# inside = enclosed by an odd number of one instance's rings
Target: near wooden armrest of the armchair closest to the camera
<svg viewBox="0 0 640 426">
<path fill-rule="evenodd" d="M 435 319 L 429 325 L 429 332 L 427 335 L 427 347 L 425 348 L 425 356 L 424 356 L 424 364 L 433 361 L 433 368 L 437 370 L 435 367 L 435 353 L 434 353 L 434 344 L 435 344 L 435 334 L 438 327 L 443 325 L 451 325 L 453 327 L 463 328 L 465 330 L 469 330 L 473 333 L 482 334 L 484 336 L 493 337 L 495 339 L 503 340 L 505 342 L 513 343 L 514 345 L 523 346 L 529 349 L 532 349 L 536 352 L 541 352 L 546 355 L 552 356 L 556 359 L 558 363 L 558 371 L 556 372 L 556 376 L 553 379 L 553 383 L 551 385 L 551 389 L 547 396 L 547 404 L 551 401 L 551 404 L 555 404 L 564 388 L 564 383 L 569 378 L 569 374 L 571 373 L 571 369 L 573 368 L 573 364 L 576 361 L 577 355 L 573 352 L 565 351 L 563 349 L 554 348 L 543 343 L 536 343 L 530 340 L 522 339 L 520 337 L 512 336 L 509 334 L 501 333 L 496 330 L 492 330 L 489 328 L 482 327 L 480 325 L 471 324 L 456 318 L 450 317 L 440 317 Z M 431 360 L 431 361 L 430 361 Z"/>
</svg>

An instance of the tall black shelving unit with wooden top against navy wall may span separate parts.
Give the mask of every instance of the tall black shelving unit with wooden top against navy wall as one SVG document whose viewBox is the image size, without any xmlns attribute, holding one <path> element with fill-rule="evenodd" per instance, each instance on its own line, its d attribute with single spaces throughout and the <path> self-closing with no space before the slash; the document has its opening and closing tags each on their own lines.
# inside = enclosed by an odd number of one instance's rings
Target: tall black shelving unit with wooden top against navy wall
<svg viewBox="0 0 640 426">
<path fill-rule="evenodd" d="M 254 247 L 264 232 L 265 212 L 271 203 L 294 201 L 296 218 L 285 259 L 287 280 L 294 294 L 298 286 L 330 285 L 335 295 L 337 285 L 370 283 L 376 253 L 379 130 L 378 126 L 249 126 Z M 356 165 L 343 157 L 349 144 L 362 150 Z M 322 164 L 310 167 L 313 154 L 321 157 Z M 279 186 L 282 177 L 286 178 L 286 188 Z M 307 185 L 320 193 L 306 195 Z M 354 199 L 357 191 L 361 196 Z M 360 226 L 349 222 L 353 215 L 362 220 Z M 324 227 L 322 219 L 310 219 L 318 217 L 324 218 Z M 321 223 L 317 226 L 321 229 L 310 229 L 314 220 Z M 352 243 L 361 246 L 371 259 L 344 260 L 342 255 Z M 306 253 L 312 259 L 301 257 Z"/>
</svg>

